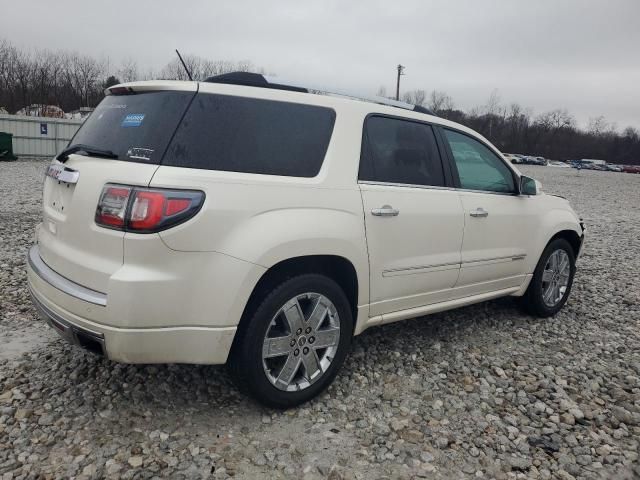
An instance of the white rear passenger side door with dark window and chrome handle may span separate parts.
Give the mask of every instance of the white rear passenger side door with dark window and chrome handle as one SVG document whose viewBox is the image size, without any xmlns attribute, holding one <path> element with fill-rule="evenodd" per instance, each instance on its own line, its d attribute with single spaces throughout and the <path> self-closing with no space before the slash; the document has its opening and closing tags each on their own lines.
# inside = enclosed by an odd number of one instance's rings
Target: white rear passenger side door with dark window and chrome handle
<svg viewBox="0 0 640 480">
<path fill-rule="evenodd" d="M 370 263 L 370 315 L 452 295 L 464 219 L 430 125 L 370 116 L 359 184 Z"/>
</svg>

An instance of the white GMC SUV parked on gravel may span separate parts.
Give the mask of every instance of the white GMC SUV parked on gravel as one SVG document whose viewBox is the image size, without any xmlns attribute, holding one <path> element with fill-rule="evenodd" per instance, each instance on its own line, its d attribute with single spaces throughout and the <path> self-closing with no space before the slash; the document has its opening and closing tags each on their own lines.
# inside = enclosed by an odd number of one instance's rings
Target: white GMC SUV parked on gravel
<svg viewBox="0 0 640 480">
<path fill-rule="evenodd" d="M 127 363 L 228 362 L 261 402 L 327 387 L 374 325 L 566 302 L 584 227 L 468 128 L 257 74 L 111 87 L 48 167 L 39 311 Z"/>
</svg>

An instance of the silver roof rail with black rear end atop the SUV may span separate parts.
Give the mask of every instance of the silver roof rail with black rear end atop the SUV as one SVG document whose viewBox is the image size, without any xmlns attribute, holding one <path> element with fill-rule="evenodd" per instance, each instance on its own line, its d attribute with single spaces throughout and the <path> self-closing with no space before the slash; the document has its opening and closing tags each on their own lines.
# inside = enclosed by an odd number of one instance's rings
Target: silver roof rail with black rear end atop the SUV
<svg viewBox="0 0 640 480">
<path fill-rule="evenodd" d="M 405 110 L 412 110 L 414 112 L 426 113 L 428 115 L 434 115 L 434 113 L 420 105 L 412 105 L 406 102 L 400 102 L 398 100 L 391 100 L 389 98 L 378 97 L 375 95 L 362 95 L 360 93 L 350 92 L 347 90 L 325 88 L 317 85 L 300 85 L 293 83 L 278 77 L 271 75 L 262 75 L 260 73 L 250 72 L 231 72 L 223 73 L 221 75 L 215 75 L 205 79 L 208 83 L 228 83 L 232 85 L 245 85 L 249 87 L 260 88 L 273 88 L 276 90 L 289 90 L 293 92 L 302 93 L 315 93 L 324 95 L 336 95 L 340 97 L 348 97 L 356 100 L 363 100 L 365 102 L 377 103 L 379 105 L 387 105 L 390 107 L 403 108 Z"/>
</svg>

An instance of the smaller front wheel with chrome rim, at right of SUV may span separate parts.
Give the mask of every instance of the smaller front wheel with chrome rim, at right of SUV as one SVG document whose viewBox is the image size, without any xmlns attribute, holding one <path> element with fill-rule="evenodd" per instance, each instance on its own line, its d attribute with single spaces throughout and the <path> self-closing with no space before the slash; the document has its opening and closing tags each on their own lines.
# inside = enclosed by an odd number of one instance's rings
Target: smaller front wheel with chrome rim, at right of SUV
<svg viewBox="0 0 640 480">
<path fill-rule="evenodd" d="M 558 313 L 569 298 L 575 272 L 576 259 L 569 242 L 563 238 L 550 242 L 522 297 L 525 309 L 539 317 Z"/>
</svg>

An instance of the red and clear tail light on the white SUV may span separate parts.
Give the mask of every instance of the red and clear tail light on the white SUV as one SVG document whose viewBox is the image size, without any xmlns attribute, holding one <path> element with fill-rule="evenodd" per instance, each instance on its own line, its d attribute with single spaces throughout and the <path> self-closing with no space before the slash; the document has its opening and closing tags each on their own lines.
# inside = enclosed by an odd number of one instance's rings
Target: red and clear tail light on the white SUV
<svg viewBox="0 0 640 480">
<path fill-rule="evenodd" d="M 204 202 L 195 190 L 105 185 L 96 208 L 96 224 L 116 230 L 153 233 L 186 222 Z"/>
</svg>

